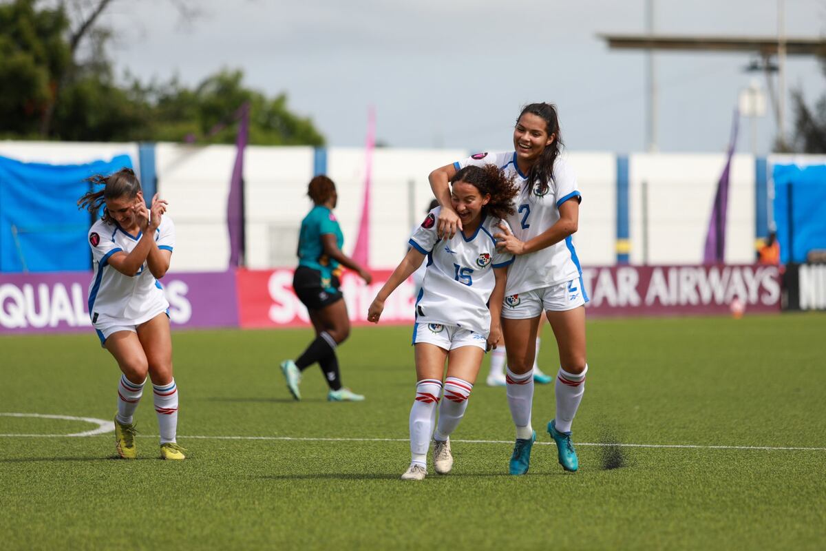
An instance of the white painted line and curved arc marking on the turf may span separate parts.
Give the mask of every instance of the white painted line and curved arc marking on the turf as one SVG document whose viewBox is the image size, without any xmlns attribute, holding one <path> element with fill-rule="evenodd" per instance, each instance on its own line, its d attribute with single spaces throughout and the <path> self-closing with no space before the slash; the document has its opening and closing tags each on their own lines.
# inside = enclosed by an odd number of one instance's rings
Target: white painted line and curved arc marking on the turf
<svg viewBox="0 0 826 551">
<path fill-rule="evenodd" d="M 45 419 L 62 420 L 83 420 L 99 425 L 95 430 L 75 433 L 72 435 L 0 435 L 0 438 L 66 438 L 76 436 L 102 435 L 114 430 L 111 420 L 94 419 L 93 417 L 70 417 L 70 416 L 47 416 L 36 413 L 0 413 L 0 416 L 8 417 L 40 417 Z M 104 426 L 104 424 L 108 426 Z M 158 435 L 137 435 L 139 438 L 158 438 Z M 179 436 L 180 439 L 202 439 L 202 440 L 271 440 L 271 441 L 297 441 L 297 442 L 408 442 L 406 438 L 325 438 L 311 436 L 209 436 L 190 435 Z M 454 439 L 453 442 L 461 444 L 509 444 L 513 445 L 513 440 L 465 440 Z M 550 442 L 537 442 L 538 445 L 550 445 Z M 622 444 L 606 442 L 576 442 L 577 446 L 596 447 L 619 447 L 619 448 L 666 448 L 666 449 L 754 449 L 765 451 L 807 451 L 822 452 L 826 448 L 802 448 L 802 447 L 781 447 L 781 446 L 725 446 L 725 445 L 703 445 L 703 444 Z"/>
</svg>

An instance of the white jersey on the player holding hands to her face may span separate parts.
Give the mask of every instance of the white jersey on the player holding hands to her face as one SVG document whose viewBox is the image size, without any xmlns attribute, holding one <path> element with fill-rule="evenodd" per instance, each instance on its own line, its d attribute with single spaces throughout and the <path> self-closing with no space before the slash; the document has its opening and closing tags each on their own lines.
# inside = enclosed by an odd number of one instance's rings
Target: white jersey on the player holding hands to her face
<svg viewBox="0 0 826 551">
<path fill-rule="evenodd" d="M 154 232 L 159 249 L 171 251 L 175 246 L 175 226 L 169 216 L 161 219 Z M 92 247 L 93 278 L 89 285 L 89 316 L 93 323 L 97 315 L 110 316 L 129 325 L 138 325 L 169 308 L 160 283 L 144 264 L 134 276 L 118 272 L 109 266 L 112 254 L 123 251 L 129 254 L 138 245 L 141 232 L 130 235 L 116 223 L 98 220 L 89 230 L 89 246 Z"/>
</svg>

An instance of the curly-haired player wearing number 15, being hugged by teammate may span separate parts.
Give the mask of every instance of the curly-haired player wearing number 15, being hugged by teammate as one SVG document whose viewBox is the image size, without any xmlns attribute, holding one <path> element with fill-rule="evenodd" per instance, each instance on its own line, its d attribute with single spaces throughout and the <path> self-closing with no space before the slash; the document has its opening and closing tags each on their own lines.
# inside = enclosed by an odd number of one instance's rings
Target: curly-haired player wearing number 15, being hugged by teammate
<svg viewBox="0 0 826 551">
<path fill-rule="evenodd" d="M 427 474 L 431 437 L 436 473 L 453 468 L 450 435 L 468 407 L 485 351 L 500 339 L 507 267 L 514 260 L 513 254 L 496 249 L 493 238 L 504 224 L 501 219 L 513 211 L 517 190 L 510 179 L 493 166 L 470 166 L 454 173 L 450 183 L 451 209 L 463 229 L 440 240 L 436 218 L 441 207 L 430 211 L 411 236 L 411 249 L 368 309 L 368 321 L 378 323 L 387 297 L 427 256 L 415 306 L 416 396 L 409 424 L 411 464 L 401 475 L 405 480 L 422 480 Z"/>
</svg>

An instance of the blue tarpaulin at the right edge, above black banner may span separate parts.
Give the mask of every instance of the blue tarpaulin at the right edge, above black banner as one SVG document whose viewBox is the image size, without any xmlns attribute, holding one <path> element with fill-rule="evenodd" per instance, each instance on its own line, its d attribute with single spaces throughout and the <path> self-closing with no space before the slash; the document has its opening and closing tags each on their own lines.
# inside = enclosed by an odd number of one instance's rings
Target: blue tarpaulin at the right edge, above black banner
<svg viewBox="0 0 826 551">
<path fill-rule="evenodd" d="M 803 263 L 810 250 L 826 249 L 826 165 L 776 164 L 772 173 L 781 263 Z"/>
</svg>

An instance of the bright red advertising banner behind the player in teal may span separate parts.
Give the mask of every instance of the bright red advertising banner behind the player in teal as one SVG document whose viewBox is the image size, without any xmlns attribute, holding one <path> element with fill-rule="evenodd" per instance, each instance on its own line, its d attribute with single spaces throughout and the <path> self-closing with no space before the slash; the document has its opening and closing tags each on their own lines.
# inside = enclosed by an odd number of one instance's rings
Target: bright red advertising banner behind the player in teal
<svg viewBox="0 0 826 551">
<path fill-rule="evenodd" d="M 292 268 L 244 270 L 236 272 L 238 310 L 241 327 L 290 327 L 308 325 L 306 307 L 292 291 Z M 373 270 L 373 283 L 367 285 L 352 272 L 344 272 L 341 292 L 353 325 L 368 325 L 367 310 L 373 297 L 390 277 L 392 270 Z M 382 324 L 412 324 L 413 283 L 406 281 L 384 304 Z"/>
</svg>

